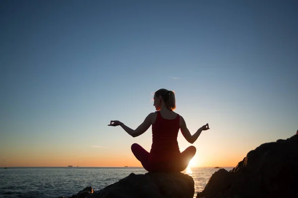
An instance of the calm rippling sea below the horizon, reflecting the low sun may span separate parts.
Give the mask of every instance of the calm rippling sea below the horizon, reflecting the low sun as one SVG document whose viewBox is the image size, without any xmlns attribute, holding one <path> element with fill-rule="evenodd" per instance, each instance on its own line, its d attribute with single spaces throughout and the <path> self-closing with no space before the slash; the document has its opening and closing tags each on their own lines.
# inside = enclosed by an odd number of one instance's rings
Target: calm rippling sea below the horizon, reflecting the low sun
<svg viewBox="0 0 298 198">
<path fill-rule="evenodd" d="M 227 171 L 232 167 L 225 167 Z M 215 168 L 187 168 L 195 181 L 195 195 L 206 186 Z M 72 196 L 87 186 L 100 190 L 130 173 L 145 174 L 143 168 L 23 167 L 0 169 L 0 198 L 58 198 Z"/>
</svg>

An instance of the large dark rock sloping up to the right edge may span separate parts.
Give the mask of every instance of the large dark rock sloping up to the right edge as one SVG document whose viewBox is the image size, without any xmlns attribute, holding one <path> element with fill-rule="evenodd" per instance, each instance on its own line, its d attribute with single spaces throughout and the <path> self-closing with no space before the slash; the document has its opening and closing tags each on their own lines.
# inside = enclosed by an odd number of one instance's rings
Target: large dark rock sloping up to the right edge
<svg viewBox="0 0 298 198">
<path fill-rule="evenodd" d="M 298 198 L 298 135 L 265 143 L 231 171 L 220 169 L 197 198 Z"/>
</svg>

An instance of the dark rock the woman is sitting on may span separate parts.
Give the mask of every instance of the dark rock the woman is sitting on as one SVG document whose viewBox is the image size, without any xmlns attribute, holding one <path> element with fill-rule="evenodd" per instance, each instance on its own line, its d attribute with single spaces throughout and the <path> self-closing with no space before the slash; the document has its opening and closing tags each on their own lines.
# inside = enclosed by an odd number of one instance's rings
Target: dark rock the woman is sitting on
<svg viewBox="0 0 298 198">
<path fill-rule="evenodd" d="M 93 193 L 91 187 L 70 198 L 193 198 L 194 180 L 183 173 L 134 174 Z"/>
</svg>

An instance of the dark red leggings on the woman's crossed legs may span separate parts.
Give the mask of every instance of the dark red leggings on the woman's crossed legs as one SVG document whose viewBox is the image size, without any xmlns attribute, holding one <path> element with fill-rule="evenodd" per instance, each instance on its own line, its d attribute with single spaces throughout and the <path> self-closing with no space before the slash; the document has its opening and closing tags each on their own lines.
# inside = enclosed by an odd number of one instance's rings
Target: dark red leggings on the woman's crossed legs
<svg viewBox="0 0 298 198">
<path fill-rule="evenodd" d="M 150 153 L 138 144 L 133 144 L 132 152 L 148 172 L 181 172 L 186 169 L 189 161 L 196 154 L 196 148 L 190 146 L 180 153 L 179 160 L 152 162 Z"/>
</svg>

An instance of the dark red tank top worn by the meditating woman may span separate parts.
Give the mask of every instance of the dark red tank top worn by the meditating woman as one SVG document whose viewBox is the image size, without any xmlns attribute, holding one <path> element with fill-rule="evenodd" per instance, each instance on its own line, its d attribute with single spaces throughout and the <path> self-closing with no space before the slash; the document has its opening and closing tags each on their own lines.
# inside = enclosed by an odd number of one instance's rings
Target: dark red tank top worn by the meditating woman
<svg viewBox="0 0 298 198">
<path fill-rule="evenodd" d="M 152 125 L 152 145 L 149 155 L 150 161 L 174 160 L 180 155 L 177 142 L 180 116 L 175 119 L 164 119 L 157 111 L 157 117 Z"/>
</svg>

